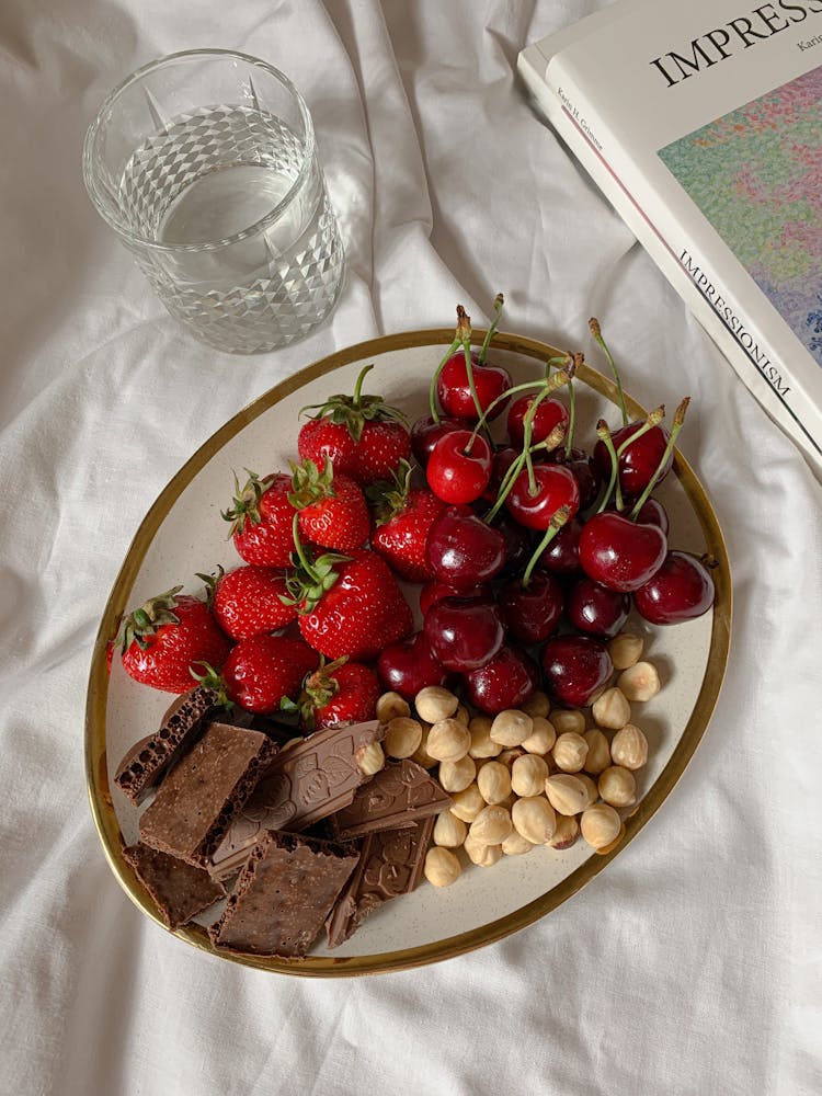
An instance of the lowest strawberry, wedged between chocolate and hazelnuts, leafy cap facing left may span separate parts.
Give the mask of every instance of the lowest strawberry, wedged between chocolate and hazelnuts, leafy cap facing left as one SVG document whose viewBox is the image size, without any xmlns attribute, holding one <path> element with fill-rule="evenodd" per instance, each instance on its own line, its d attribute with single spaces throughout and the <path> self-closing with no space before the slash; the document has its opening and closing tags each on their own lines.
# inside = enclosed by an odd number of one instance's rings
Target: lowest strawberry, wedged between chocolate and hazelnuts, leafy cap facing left
<svg viewBox="0 0 822 1096">
<path fill-rule="evenodd" d="M 298 710 L 304 730 L 310 733 L 374 719 L 379 692 L 375 673 L 362 662 L 320 659 L 319 667 L 306 677 L 297 704 L 284 707 Z"/>
</svg>

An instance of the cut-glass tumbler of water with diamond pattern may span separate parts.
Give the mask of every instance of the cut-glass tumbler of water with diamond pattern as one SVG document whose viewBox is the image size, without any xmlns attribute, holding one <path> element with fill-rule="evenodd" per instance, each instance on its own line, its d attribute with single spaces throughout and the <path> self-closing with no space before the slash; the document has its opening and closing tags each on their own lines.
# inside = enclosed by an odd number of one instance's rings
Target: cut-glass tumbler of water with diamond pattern
<svg viewBox="0 0 822 1096">
<path fill-rule="evenodd" d="M 153 61 L 105 100 L 83 146 L 91 201 L 202 342 L 254 354 L 332 310 L 344 259 L 308 107 L 265 61 Z"/>
</svg>

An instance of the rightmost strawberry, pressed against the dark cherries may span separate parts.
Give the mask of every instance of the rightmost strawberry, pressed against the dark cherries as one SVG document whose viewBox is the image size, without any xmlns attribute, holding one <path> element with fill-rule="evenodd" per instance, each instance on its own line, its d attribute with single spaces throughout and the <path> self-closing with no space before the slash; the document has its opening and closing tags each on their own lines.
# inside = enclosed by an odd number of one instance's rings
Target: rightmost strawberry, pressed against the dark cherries
<svg viewBox="0 0 822 1096">
<path fill-rule="evenodd" d="M 408 582 L 427 582 L 434 572 L 425 562 L 429 530 L 445 509 L 427 488 L 411 487 L 411 465 L 401 460 L 390 480 L 367 490 L 375 527 L 372 548 Z"/>
</svg>

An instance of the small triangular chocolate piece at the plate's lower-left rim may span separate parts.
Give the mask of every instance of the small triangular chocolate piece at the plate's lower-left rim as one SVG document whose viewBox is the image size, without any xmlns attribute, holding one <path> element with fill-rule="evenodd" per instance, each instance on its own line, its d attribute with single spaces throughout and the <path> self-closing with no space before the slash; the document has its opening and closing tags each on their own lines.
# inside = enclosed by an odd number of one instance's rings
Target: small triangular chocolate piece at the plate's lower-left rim
<svg viewBox="0 0 822 1096">
<path fill-rule="evenodd" d="M 187 924 L 226 897 L 225 887 L 215 882 L 204 868 L 195 868 L 148 845 L 129 845 L 123 849 L 123 857 L 132 865 L 171 929 Z"/>
</svg>

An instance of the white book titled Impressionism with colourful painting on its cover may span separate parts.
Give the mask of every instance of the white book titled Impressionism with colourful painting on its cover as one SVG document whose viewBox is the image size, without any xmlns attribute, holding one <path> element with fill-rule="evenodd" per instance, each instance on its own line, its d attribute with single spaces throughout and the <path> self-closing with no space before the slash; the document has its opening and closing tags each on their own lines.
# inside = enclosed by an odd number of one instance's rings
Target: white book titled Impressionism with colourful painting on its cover
<svg viewBox="0 0 822 1096">
<path fill-rule="evenodd" d="M 617 0 L 518 68 L 822 477 L 822 0 Z"/>
</svg>

